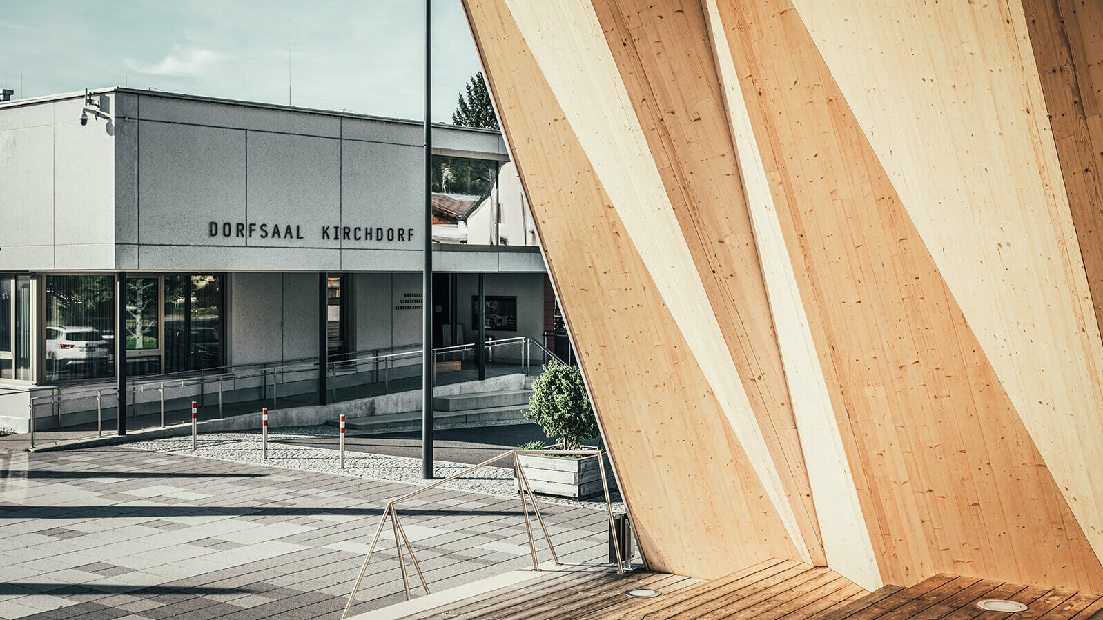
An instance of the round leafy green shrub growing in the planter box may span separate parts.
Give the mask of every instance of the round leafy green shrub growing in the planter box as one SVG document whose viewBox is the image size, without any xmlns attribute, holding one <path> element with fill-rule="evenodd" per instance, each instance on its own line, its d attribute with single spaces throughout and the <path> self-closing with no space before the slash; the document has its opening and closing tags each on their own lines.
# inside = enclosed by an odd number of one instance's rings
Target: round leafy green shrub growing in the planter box
<svg viewBox="0 0 1103 620">
<path fill-rule="evenodd" d="M 525 417 L 539 424 L 548 437 L 561 437 L 568 450 L 578 449 L 582 439 L 598 435 L 598 420 L 577 366 L 546 366 L 533 380 Z"/>
</svg>

